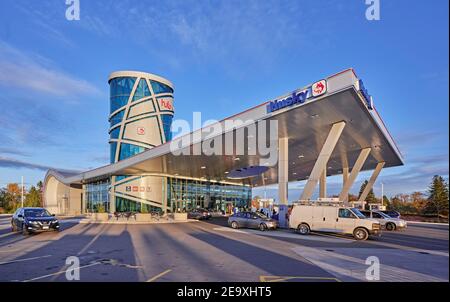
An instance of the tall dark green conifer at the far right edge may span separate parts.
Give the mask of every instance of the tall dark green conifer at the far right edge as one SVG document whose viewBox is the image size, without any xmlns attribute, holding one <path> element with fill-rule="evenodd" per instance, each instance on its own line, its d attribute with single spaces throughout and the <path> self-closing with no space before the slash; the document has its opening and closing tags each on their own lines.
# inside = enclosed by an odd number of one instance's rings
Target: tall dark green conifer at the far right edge
<svg viewBox="0 0 450 302">
<path fill-rule="evenodd" d="M 448 184 L 444 178 L 439 175 L 435 175 L 431 181 L 428 189 L 428 202 L 426 205 L 426 212 L 437 214 L 439 216 L 448 216 Z"/>
</svg>

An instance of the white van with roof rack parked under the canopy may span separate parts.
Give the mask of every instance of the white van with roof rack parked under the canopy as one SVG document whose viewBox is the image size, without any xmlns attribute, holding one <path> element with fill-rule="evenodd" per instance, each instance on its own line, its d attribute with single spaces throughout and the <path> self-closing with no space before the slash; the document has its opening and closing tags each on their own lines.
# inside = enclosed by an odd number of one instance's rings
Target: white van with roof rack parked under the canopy
<svg viewBox="0 0 450 302">
<path fill-rule="evenodd" d="M 310 231 L 351 234 L 356 240 L 379 235 L 380 223 L 366 218 L 358 209 L 340 205 L 294 204 L 289 227 L 302 235 Z"/>
</svg>

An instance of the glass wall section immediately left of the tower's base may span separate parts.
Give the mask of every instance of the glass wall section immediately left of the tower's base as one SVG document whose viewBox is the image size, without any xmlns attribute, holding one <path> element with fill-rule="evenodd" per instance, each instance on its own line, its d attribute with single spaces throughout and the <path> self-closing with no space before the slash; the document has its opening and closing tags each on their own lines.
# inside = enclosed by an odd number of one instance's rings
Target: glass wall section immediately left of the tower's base
<svg viewBox="0 0 450 302">
<path fill-rule="evenodd" d="M 102 206 L 105 212 L 109 212 L 109 188 L 109 178 L 86 184 L 86 212 L 98 212 Z"/>
</svg>

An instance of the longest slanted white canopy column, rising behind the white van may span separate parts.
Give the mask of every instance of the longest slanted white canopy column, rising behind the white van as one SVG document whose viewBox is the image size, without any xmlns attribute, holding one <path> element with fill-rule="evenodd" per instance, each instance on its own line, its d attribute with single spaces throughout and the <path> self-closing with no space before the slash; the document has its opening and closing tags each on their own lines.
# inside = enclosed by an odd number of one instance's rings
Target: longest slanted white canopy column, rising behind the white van
<svg viewBox="0 0 450 302">
<path fill-rule="evenodd" d="M 345 122 L 339 122 L 333 124 L 328 137 L 323 144 L 322 150 L 320 151 L 319 157 L 314 164 L 314 167 L 309 175 L 308 181 L 306 182 L 305 188 L 303 189 L 300 200 L 309 200 L 319 182 L 320 176 L 324 169 L 327 167 L 328 160 L 333 153 L 334 147 L 336 147 L 339 138 L 341 137 L 342 131 L 344 130 Z"/>
</svg>

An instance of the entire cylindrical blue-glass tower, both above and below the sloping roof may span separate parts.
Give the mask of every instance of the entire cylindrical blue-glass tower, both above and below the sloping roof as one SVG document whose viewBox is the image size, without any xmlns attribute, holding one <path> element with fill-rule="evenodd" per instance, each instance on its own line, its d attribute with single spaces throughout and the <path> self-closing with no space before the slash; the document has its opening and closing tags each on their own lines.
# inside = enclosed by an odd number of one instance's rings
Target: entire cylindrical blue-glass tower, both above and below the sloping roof
<svg viewBox="0 0 450 302">
<path fill-rule="evenodd" d="M 111 163 L 171 140 L 173 85 L 154 74 L 118 71 L 109 76 L 109 144 Z M 114 175 L 110 178 L 110 212 L 166 211 L 166 178 Z"/>
</svg>

